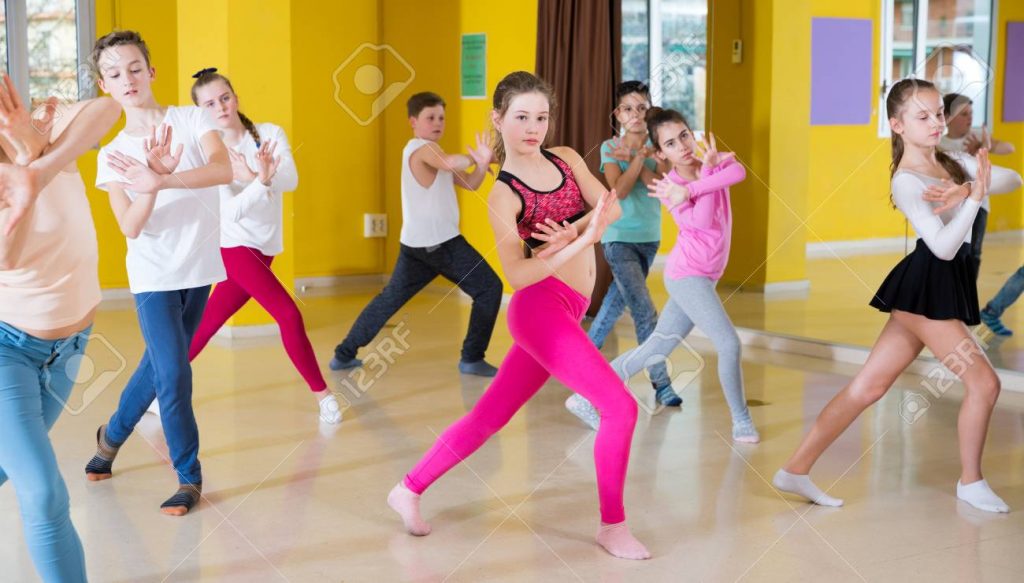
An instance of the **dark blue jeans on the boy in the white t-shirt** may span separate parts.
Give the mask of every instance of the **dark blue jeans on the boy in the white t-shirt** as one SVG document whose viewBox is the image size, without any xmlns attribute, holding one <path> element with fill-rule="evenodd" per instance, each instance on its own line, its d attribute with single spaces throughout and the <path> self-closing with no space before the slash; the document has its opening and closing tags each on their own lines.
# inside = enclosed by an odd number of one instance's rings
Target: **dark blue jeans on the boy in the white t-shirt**
<svg viewBox="0 0 1024 583">
<path fill-rule="evenodd" d="M 145 353 L 106 425 L 106 440 L 120 447 L 145 414 L 154 398 L 180 484 L 203 482 L 199 463 L 199 428 L 191 408 L 188 345 L 203 319 L 210 286 L 135 294 L 135 313 Z"/>
</svg>

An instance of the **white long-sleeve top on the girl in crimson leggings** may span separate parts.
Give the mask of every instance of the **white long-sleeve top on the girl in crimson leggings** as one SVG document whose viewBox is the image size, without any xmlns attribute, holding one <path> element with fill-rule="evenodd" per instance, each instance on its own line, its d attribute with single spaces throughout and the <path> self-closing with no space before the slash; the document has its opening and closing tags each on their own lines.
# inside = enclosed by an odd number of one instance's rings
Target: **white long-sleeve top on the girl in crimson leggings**
<svg viewBox="0 0 1024 583">
<path fill-rule="evenodd" d="M 282 237 L 283 195 L 295 190 L 299 184 L 299 174 L 285 130 L 273 124 L 257 124 L 256 131 L 261 141 L 276 143 L 274 157 L 281 158 L 281 163 L 269 186 L 253 180 L 248 184 L 231 182 L 219 188 L 220 246 L 252 247 L 264 255 L 278 255 L 285 250 Z M 250 168 L 256 169 L 259 147 L 252 134 L 246 132 L 233 150 L 246 157 Z"/>
</svg>

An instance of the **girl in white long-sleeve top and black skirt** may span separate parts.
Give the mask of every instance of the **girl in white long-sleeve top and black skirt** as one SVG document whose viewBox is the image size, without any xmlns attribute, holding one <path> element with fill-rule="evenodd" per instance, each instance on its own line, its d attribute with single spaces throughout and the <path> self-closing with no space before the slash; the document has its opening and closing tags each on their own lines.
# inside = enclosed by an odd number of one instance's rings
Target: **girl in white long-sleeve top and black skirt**
<svg viewBox="0 0 1024 583">
<path fill-rule="evenodd" d="M 971 258 L 971 226 L 985 197 L 1020 188 L 1016 172 L 993 170 L 988 152 L 947 155 L 937 147 L 945 129 L 942 95 L 932 83 L 904 79 L 886 100 L 892 128 L 892 200 L 919 236 L 879 288 L 870 304 L 889 313 L 864 367 L 825 406 L 793 457 L 775 474 L 779 490 L 825 506 L 843 501 L 819 490 L 807 475 L 825 449 L 927 346 L 966 391 L 957 420 L 961 476 L 956 497 L 989 512 L 1009 512 L 982 476 L 988 422 L 999 395 L 999 377 L 968 326 L 980 322 L 977 264 Z M 901 416 L 912 423 L 925 408 L 904 401 Z"/>
</svg>

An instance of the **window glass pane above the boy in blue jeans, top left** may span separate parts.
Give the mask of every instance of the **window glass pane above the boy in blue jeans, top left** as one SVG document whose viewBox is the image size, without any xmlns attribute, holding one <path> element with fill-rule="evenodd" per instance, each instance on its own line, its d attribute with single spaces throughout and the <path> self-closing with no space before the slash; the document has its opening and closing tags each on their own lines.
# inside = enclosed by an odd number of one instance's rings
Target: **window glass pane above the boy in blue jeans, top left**
<svg viewBox="0 0 1024 583">
<path fill-rule="evenodd" d="M 78 24 L 75 0 L 27 0 L 29 96 L 35 109 L 55 96 L 78 100 Z"/>
</svg>

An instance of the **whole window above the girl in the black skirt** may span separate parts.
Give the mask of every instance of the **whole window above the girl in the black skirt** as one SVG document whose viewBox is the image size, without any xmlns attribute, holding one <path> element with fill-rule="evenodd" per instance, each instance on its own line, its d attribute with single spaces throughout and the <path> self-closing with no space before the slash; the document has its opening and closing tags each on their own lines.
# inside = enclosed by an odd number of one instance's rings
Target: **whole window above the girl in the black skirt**
<svg viewBox="0 0 1024 583">
<path fill-rule="evenodd" d="M 883 0 L 879 133 L 889 135 L 885 99 L 893 83 L 918 77 L 974 101 L 974 125 L 991 100 L 992 0 Z"/>
</svg>

